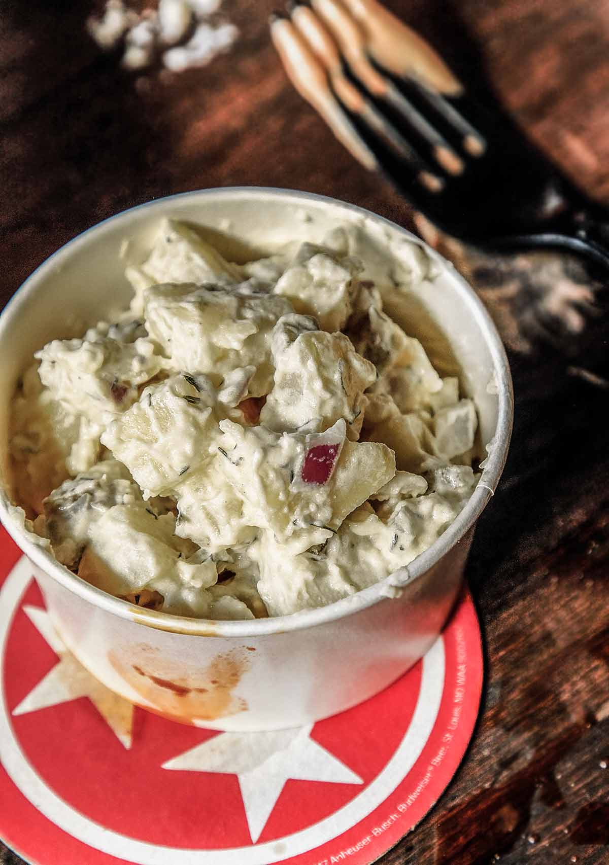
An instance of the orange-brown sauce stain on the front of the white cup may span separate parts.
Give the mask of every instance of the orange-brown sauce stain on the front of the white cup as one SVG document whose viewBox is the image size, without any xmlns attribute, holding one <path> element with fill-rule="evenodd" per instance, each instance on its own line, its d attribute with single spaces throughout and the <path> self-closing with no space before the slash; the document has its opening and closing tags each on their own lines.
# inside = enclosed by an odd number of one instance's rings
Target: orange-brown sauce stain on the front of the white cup
<svg viewBox="0 0 609 865">
<path fill-rule="evenodd" d="M 158 650 L 146 644 L 108 655 L 114 670 L 157 714 L 185 723 L 215 721 L 244 712 L 247 703 L 234 694 L 249 657 L 233 649 L 219 654 L 203 670 L 176 675 L 176 662 L 168 662 Z"/>
</svg>

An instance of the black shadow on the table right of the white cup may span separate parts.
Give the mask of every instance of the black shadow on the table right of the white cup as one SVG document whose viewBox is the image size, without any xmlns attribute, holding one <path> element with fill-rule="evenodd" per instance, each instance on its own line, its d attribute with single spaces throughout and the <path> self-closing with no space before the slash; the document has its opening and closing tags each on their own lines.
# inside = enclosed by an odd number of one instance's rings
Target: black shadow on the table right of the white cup
<svg viewBox="0 0 609 865">
<path fill-rule="evenodd" d="M 585 330 L 530 354 L 509 357 L 515 389 L 508 462 L 476 529 L 470 586 L 488 602 L 522 581 L 521 569 L 547 553 L 609 500 L 609 315 L 606 292 Z"/>
</svg>

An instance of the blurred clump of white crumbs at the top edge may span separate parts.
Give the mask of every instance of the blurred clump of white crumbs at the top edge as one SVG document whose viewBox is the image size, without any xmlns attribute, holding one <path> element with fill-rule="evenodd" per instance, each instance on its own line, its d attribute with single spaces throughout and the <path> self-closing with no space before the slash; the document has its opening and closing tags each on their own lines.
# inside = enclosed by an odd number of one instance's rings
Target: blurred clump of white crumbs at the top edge
<svg viewBox="0 0 609 865">
<path fill-rule="evenodd" d="M 142 70 L 163 65 L 171 72 L 207 66 L 236 41 L 238 30 L 218 20 L 221 0 L 159 0 L 141 13 L 123 0 L 107 0 L 101 17 L 90 17 L 87 31 L 103 51 L 122 46 L 121 66 Z"/>
</svg>

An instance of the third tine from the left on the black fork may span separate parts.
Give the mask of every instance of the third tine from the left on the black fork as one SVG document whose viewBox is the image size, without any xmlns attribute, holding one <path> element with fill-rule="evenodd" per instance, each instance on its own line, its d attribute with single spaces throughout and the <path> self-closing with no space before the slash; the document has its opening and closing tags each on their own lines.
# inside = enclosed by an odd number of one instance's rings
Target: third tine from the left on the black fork
<svg viewBox="0 0 609 865">
<path fill-rule="evenodd" d="M 313 0 L 315 12 L 327 25 L 340 45 L 343 54 L 360 81 L 373 96 L 386 99 L 420 138 L 431 148 L 437 163 L 449 174 L 461 174 L 463 159 L 457 156 L 448 141 L 434 129 L 417 107 L 401 93 L 392 81 L 379 73 L 368 60 L 366 37 L 357 22 L 336 0 Z M 301 7 L 304 10 L 304 7 Z M 373 77 L 371 78 L 371 70 Z M 368 83 L 371 81 L 372 86 Z"/>
</svg>

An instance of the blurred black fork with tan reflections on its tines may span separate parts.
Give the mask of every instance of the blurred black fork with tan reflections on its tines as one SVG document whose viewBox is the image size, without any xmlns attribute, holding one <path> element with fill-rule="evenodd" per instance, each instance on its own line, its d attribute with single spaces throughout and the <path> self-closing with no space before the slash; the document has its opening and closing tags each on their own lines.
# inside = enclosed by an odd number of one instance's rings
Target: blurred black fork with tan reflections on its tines
<svg viewBox="0 0 609 865">
<path fill-rule="evenodd" d="M 376 0 L 271 16 L 288 75 L 338 138 L 438 227 L 479 247 L 561 247 L 609 268 L 609 212 Z"/>
</svg>

